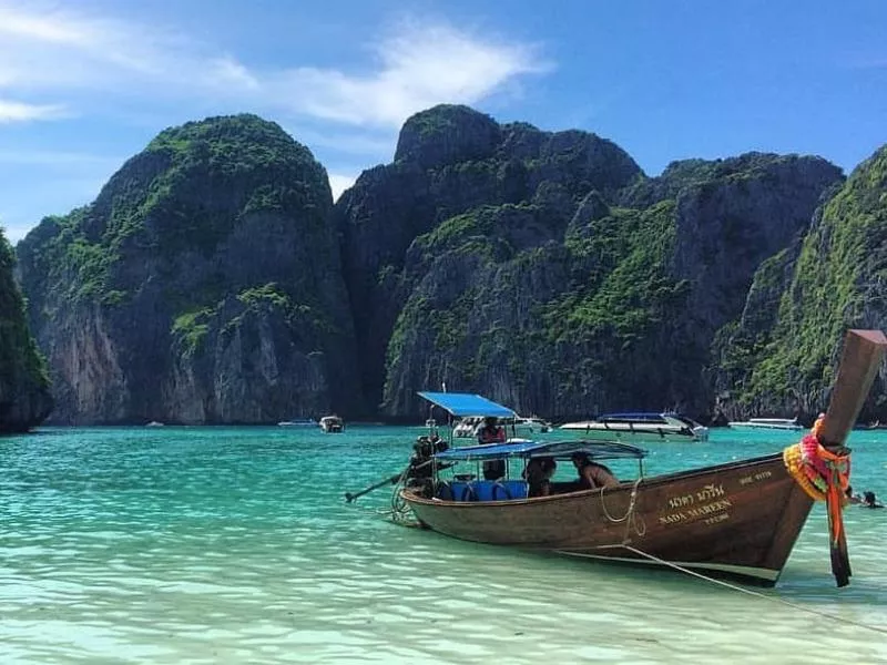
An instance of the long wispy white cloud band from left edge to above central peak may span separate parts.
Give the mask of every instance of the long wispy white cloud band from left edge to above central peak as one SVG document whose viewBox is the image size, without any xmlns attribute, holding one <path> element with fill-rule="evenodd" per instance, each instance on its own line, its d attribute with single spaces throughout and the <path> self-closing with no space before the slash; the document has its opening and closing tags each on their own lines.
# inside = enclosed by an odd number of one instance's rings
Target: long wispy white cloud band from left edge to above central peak
<svg viewBox="0 0 887 665">
<path fill-rule="evenodd" d="M 398 23 L 369 48 L 369 73 L 310 64 L 251 69 L 233 54 L 156 25 L 0 0 L 0 92 L 22 100 L 38 95 L 40 102 L 54 98 L 44 109 L 74 105 L 70 98 L 78 91 L 101 91 L 104 108 L 115 100 L 200 102 L 396 127 L 434 104 L 477 103 L 549 68 L 532 45 L 440 22 Z M 88 112 L 90 102 L 80 103 Z"/>
</svg>

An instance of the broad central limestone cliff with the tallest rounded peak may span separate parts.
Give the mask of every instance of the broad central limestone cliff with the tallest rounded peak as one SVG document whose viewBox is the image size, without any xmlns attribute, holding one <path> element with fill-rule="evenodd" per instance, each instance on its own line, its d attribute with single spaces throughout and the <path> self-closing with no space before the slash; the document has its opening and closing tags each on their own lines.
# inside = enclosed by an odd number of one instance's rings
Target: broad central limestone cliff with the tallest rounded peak
<svg viewBox="0 0 887 665">
<path fill-rule="evenodd" d="M 840 178 L 758 153 L 648 178 L 593 134 L 420 113 L 336 206 L 365 391 L 388 416 L 442 382 L 551 418 L 711 416 L 715 334 Z"/>
</svg>

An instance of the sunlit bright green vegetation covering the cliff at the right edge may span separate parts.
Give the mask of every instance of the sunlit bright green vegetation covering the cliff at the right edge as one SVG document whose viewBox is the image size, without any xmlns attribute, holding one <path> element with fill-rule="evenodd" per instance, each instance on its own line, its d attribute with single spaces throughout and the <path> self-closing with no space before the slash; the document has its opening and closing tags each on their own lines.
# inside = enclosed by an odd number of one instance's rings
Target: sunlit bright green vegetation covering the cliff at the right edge
<svg viewBox="0 0 887 665">
<path fill-rule="evenodd" d="M 884 327 L 885 294 L 887 147 L 854 171 L 805 238 L 772 339 L 741 399 L 814 402 L 834 379 L 844 332 Z"/>
</svg>

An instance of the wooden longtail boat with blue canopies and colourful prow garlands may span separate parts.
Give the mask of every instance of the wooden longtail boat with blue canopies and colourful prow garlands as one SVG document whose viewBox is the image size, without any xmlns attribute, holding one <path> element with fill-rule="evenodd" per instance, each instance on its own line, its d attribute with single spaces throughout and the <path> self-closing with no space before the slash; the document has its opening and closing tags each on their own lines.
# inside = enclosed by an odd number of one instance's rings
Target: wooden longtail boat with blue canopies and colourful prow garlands
<svg viewBox="0 0 887 665">
<path fill-rule="evenodd" d="M 844 442 L 885 347 L 879 330 L 848 331 L 827 412 L 782 453 L 645 477 L 644 451 L 624 443 L 512 440 L 451 448 L 432 431 L 414 446 L 404 472 L 365 492 L 390 481 L 396 503 L 421 526 L 466 541 L 681 566 L 764 586 L 778 580 L 814 501 L 826 500 L 832 567 L 843 586 L 850 575 L 840 520 L 849 475 Z M 492 405 L 491 416 L 504 409 L 479 396 L 420 395 L 451 418 L 478 415 L 483 405 L 477 400 Z M 638 477 L 591 489 L 553 482 L 547 495 L 531 495 L 528 464 L 539 458 L 569 461 L 577 453 L 594 462 L 636 459 Z M 486 479 L 481 469 L 491 462 L 501 474 Z"/>
</svg>

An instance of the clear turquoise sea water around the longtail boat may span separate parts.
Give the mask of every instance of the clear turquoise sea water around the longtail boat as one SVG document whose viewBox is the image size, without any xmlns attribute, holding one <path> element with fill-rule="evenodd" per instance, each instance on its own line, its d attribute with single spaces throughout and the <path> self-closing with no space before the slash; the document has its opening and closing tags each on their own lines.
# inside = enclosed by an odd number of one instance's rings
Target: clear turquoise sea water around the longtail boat
<svg viewBox="0 0 887 665">
<path fill-rule="evenodd" d="M 681 573 L 462 543 L 385 521 L 420 428 L 54 429 L 0 439 L 0 663 L 887 662 L 887 510 L 817 505 L 767 598 Z M 717 430 L 648 473 L 781 450 Z M 887 499 L 887 432 L 853 483 Z M 628 473 L 620 467 L 618 471 Z M 834 623 L 772 598 L 854 623 Z"/>
</svg>

